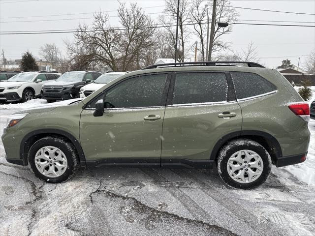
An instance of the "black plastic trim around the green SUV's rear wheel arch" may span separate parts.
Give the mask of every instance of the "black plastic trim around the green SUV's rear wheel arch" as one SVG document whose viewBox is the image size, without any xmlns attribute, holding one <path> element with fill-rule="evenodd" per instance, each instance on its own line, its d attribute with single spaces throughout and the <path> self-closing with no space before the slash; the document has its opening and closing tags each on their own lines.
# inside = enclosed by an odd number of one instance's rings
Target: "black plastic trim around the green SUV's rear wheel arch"
<svg viewBox="0 0 315 236">
<path fill-rule="evenodd" d="M 281 146 L 280 146 L 278 140 L 274 136 L 272 136 L 269 133 L 263 132 L 263 131 L 242 130 L 242 131 L 232 132 L 232 133 L 229 133 L 229 134 L 221 137 L 221 139 L 216 143 L 215 147 L 211 151 L 210 160 L 215 160 L 217 158 L 219 150 L 221 149 L 223 144 L 225 144 L 229 140 L 232 140 L 235 138 L 242 138 L 244 136 L 255 136 L 255 137 L 262 137 L 262 138 L 267 139 L 268 141 L 270 141 L 275 146 L 277 158 L 282 157 Z"/>
</svg>

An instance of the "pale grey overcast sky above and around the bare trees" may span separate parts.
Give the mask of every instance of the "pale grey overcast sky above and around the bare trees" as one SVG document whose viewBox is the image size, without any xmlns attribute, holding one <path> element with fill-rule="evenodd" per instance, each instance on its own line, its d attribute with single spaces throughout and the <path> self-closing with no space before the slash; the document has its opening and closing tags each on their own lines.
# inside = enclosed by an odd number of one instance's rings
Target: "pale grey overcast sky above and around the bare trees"
<svg viewBox="0 0 315 236">
<path fill-rule="evenodd" d="M 144 8 L 146 13 L 152 13 L 151 16 L 154 19 L 158 17 L 158 13 L 161 13 L 164 8 L 164 0 L 127 0 L 127 2 L 137 2 Z M 233 6 L 238 7 L 315 13 L 315 0 L 231 0 L 231 2 Z M 118 18 L 115 17 L 118 5 L 117 0 L 0 0 L 0 31 L 75 29 L 79 22 L 90 24 L 92 19 L 82 18 L 93 18 L 91 12 L 98 11 L 99 9 L 101 11 L 111 11 L 108 13 L 109 16 L 113 16 L 110 18 L 111 25 L 119 26 Z M 250 23 L 315 25 L 315 15 L 287 14 L 248 9 L 237 9 L 237 11 L 240 14 L 240 22 L 244 23 L 245 21 L 241 20 L 313 22 L 272 23 L 257 21 Z M 47 16 L 60 14 L 74 15 Z M 32 52 L 36 57 L 39 57 L 39 48 L 45 43 L 55 43 L 65 53 L 64 39 L 72 39 L 72 33 L 0 35 L 0 49 L 1 53 L 2 49 L 4 50 L 4 55 L 7 59 L 20 59 L 21 54 L 27 50 Z M 276 67 L 281 64 L 282 59 L 286 58 L 290 59 L 291 63 L 297 65 L 299 57 L 301 58 L 300 65 L 303 66 L 306 59 L 305 55 L 310 54 L 315 48 L 315 28 L 234 25 L 233 31 L 225 35 L 222 39 L 231 42 L 231 48 L 236 51 L 246 48 L 252 41 L 257 46 L 261 62 L 268 67 Z M 195 40 L 196 38 L 192 36 L 191 44 Z"/>
</svg>

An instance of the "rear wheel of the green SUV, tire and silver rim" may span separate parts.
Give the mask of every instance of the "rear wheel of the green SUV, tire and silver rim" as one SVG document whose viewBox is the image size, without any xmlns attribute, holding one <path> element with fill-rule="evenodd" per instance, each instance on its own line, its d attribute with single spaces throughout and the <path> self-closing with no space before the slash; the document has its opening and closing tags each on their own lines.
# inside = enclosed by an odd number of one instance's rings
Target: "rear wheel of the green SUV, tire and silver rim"
<svg viewBox="0 0 315 236">
<path fill-rule="evenodd" d="M 257 142 L 250 139 L 237 139 L 221 148 L 217 167 L 221 179 L 228 186 L 253 189 L 268 178 L 271 157 Z"/>
</svg>

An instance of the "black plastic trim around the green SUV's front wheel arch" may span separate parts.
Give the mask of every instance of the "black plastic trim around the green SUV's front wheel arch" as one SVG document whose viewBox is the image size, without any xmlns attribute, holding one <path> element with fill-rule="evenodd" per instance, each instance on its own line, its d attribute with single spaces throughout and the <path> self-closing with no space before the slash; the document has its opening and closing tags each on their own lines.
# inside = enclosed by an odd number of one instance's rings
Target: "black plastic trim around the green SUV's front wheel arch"
<svg viewBox="0 0 315 236">
<path fill-rule="evenodd" d="M 32 138 L 33 136 L 40 135 L 40 134 L 46 134 L 46 133 L 49 135 L 61 135 L 61 136 L 66 137 L 67 139 L 69 139 L 79 154 L 79 160 L 80 160 L 81 166 L 86 165 L 86 159 L 85 159 L 85 155 L 84 155 L 83 149 L 81 147 L 81 144 L 80 144 L 79 140 L 77 140 L 72 134 L 69 134 L 68 132 L 60 130 L 60 129 L 38 129 L 38 130 L 31 131 L 30 133 L 25 135 L 21 141 L 20 159 L 23 160 L 24 166 L 26 166 L 28 163 L 27 162 L 27 156 L 25 155 L 25 153 L 26 153 L 25 148 L 26 148 L 27 141 L 30 138 Z"/>
</svg>

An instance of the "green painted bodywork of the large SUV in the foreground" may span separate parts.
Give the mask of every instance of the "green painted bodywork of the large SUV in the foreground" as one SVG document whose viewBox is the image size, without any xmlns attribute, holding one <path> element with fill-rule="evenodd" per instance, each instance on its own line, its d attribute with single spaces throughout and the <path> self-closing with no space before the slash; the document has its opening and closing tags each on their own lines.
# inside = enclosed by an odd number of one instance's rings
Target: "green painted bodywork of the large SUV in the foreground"
<svg viewBox="0 0 315 236">
<path fill-rule="evenodd" d="M 100 117 L 93 115 L 95 108 L 87 106 L 104 90 L 126 78 L 155 73 L 173 73 L 173 76 L 176 72 L 192 71 L 255 73 L 277 89 L 228 102 L 105 109 Z M 176 164 L 182 160 L 205 164 L 215 161 L 218 150 L 229 139 L 246 136 L 263 140 L 276 163 L 281 157 L 307 153 L 310 136 L 307 122 L 288 109 L 288 104 L 302 101 L 274 69 L 182 66 L 139 70 L 115 79 L 82 101 L 15 113 L 28 115 L 15 126 L 4 128 L 2 142 L 7 160 L 23 165 L 27 165 L 30 145 L 40 137 L 54 134 L 66 137 L 75 145 L 82 166 L 89 162 L 106 163 L 109 159 L 156 165 Z M 225 112 L 233 116 L 224 117 Z M 144 119 L 151 115 L 160 118 Z"/>
</svg>

